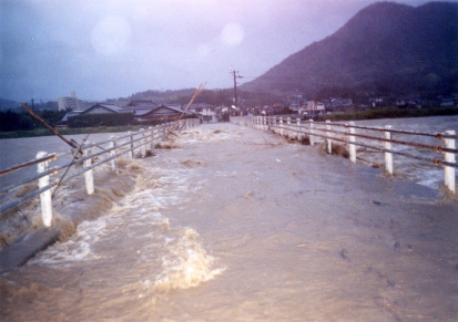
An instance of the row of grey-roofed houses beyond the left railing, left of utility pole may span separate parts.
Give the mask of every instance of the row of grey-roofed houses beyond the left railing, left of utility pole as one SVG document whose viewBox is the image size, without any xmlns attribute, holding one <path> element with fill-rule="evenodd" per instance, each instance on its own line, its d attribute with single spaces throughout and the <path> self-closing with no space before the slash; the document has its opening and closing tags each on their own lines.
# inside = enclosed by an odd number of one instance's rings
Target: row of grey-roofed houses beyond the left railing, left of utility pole
<svg viewBox="0 0 458 322">
<path fill-rule="evenodd" d="M 152 101 L 131 101 L 128 105 L 119 107 L 114 104 L 96 103 L 84 111 L 72 111 L 65 114 L 61 125 L 65 125 L 69 117 L 84 114 L 116 114 L 132 113 L 139 122 L 171 122 L 183 115 L 196 115 L 202 122 L 216 122 L 221 107 L 215 107 L 206 103 L 195 103 L 191 105 L 167 104 L 159 105 Z"/>
</svg>

